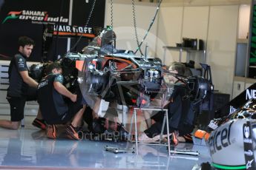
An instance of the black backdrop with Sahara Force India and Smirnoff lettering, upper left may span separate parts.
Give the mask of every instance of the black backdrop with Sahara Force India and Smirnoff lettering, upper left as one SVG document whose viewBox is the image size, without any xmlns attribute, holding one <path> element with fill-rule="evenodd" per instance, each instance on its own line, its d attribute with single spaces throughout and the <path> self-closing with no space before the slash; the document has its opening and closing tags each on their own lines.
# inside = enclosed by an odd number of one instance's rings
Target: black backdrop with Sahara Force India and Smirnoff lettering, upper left
<svg viewBox="0 0 256 170">
<path fill-rule="evenodd" d="M 105 0 L 96 0 L 91 20 L 85 27 L 93 1 L 73 0 L 72 7 L 70 0 L 1 1 L 0 59 L 10 60 L 15 55 L 22 35 L 36 42 L 30 61 L 42 61 L 45 53 L 49 60 L 55 60 L 67 52 L 68 38 L 72 47 L 80 35 L 82 39 L 74 50 L 81 50 L 104 27 Z"/>
</svg>

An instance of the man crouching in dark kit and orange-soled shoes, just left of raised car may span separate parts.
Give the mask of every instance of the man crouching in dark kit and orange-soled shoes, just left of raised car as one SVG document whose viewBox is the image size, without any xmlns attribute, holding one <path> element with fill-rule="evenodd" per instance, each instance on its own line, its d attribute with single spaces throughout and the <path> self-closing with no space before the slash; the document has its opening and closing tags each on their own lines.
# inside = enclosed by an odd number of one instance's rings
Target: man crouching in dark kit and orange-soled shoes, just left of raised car
<svg viewBox="0 0 256 170">
<path fill-rule="evenodd" d="M 47 137 L 56 139 L 56 125 L 71 121 L 65 127 L 68 137 L 80 140 L 77 127 L 81 123 L 85 105 L 82 95 L 72 94 L 63 85 L 62 67 L 58 63 L 47 66 L 48 75 L 39 82 L 38 102 L 42 116 L 47 123 Z M 68 100 L 64 100 L 64 97 Z"/>
</svg>

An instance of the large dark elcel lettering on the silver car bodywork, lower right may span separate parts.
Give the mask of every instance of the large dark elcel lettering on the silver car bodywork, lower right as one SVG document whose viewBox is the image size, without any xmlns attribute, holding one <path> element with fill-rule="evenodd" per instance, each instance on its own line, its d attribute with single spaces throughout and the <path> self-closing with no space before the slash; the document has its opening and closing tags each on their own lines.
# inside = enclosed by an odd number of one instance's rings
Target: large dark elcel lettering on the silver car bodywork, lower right
<svg viewBox="0 0 256 170">
<path fill-rule="evenodd" d="M 214 154 L 215 152 L 232 145 L 230 141 L 230 129 L 233 123 L 234 122 L 231 122 L 226 128 L 217 129 L 216 132 L 209 137 L 210 154 Z"/>
</svg>

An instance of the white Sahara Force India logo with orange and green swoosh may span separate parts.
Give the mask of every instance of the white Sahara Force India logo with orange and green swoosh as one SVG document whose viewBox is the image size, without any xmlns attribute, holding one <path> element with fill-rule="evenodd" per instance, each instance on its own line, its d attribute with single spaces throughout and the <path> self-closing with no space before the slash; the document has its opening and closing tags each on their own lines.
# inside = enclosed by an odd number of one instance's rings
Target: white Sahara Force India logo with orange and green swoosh
<svg viewBox="0 0 256 170">
<path fill-rule="evenodd" d="M 1 23 L 4 24 L 10 19 L 19 20 L 30 20 L 30 21 L 45 21 L 45 22 L 62 22 L 68 23 L 68 18 L 60 17 L 50 17 L 47 12 L 34 11 L 34 10 L 22 10 L 22 11 L 10 11 L 8 16 L 4 18 Z"/>
</svg>

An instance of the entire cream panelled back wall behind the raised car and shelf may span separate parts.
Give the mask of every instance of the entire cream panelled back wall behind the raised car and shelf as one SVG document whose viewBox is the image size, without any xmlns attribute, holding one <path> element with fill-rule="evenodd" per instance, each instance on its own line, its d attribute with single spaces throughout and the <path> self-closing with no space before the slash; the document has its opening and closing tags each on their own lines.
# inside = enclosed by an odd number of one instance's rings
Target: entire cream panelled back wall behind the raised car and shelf
<svg viewBox="0 0 256 170">
<path fill-rule="evenodd" d="M 139 40 L 156 11 L 156 3 L 136 2 L 137 29 Z M 160 7 L 159 16 L 145 40 L 150 54 L 163 59 L 163 46 L 176 46 L 182 38 L 200 38 L 205 41 L 206 64 L 211 66 L 214 89 L 232 95 L 234 58 L 236 51 L 239 5 Z M 117 35 L 117 48 L 136 49 L 131 1 L 114 1 L 114 30 Z M 105 25 L 111 24 L 110 1 L 106 1 Z M 143 30 L 143 31 L 140 31 Z M 144 52 L 145 46 L 142 46 Z M 140 53 L 137 53 L 139 55 Z M 182 61 L 186 62 L 186 52 Z M 202 55 L 194 55 L 197 64 Z M 179 52 L 167 51 L 165 64 L 179 61 Z"/>
</svg>

